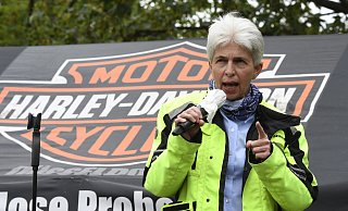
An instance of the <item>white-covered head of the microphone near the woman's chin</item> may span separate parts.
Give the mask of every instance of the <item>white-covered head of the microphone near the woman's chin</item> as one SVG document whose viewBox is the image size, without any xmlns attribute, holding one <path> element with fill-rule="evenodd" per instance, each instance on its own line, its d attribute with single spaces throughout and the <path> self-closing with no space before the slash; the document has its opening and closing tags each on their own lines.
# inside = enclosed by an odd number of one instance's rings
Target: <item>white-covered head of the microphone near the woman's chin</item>
<svg viewBox="0 0 348 211">
<path fill-rule="evenodd" d="M 212 122 L 217 109 L 224 104 L 226 94 L 221 89 L 209 90 L 203 100 L 199 103 L 200 108 L 204 109 L 208 113 L 207 120 Z"/>
</svg>

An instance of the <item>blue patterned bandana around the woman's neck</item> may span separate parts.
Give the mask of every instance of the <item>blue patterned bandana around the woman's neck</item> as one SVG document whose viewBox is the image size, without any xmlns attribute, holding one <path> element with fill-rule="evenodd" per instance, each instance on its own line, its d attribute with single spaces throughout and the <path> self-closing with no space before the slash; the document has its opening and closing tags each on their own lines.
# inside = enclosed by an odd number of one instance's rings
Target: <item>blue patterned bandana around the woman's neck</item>
<svg viewBox="0 0 348 211">
<path fill-rule="evenodd" d="M 209 89 L 215 88 L 215 82 L 209 82 Z M 262 94 L 257 86 L 250 84 L 250 91 L 243 99 L 241 104 L 236 109 L 229 103 L 224 103 L 220 110 L 232 121 L 246 121 L 249 116 L 253 115 L 259 102 L 262 100 Z M 226 100 L 228 101 L 228 100 Z"/>
</svg>

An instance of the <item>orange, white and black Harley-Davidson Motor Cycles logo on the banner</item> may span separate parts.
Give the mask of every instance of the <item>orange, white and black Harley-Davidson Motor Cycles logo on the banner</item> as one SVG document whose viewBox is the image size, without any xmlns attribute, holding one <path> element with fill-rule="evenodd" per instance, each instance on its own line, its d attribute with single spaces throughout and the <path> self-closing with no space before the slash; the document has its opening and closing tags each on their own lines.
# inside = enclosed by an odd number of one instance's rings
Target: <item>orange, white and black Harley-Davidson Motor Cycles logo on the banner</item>
<svg viewBox="0 0 348 211">
<path fill-rule="evenodd" d="M 284 54 L 265 54 L 254 80 L 279 110 L 311 116 L 328 74 L 282 76 Z M 211 78 L 203 47 L 182 42 L 108 58 L 66 60 L 46 84 L 2 83 L 0 132 L 30 150 L 28 113 L 42 113 L 41 156 L 73 165 L 146 162 L 156 116 L 174 97 L 202 91 Z"/>
</svg>

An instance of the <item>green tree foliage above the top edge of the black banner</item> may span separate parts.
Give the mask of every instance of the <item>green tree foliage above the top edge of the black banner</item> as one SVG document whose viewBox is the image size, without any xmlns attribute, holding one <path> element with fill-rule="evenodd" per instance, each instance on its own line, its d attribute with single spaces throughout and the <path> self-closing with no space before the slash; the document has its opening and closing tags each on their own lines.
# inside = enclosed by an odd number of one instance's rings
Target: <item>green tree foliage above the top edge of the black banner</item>
<svg viewBox="0 0 348 211">
<path fill-rule="evenodd" d="M 30 2 L 33 7 L 30 7 Z M 248 3 L 249 2 L 249 3 Z M 304 0 L 0 0 L 0 46 L 201 38 L 211 21 L 239 11 L 264 35 L 348 32 L 347 14 L 325 24 Z"/>
</svg>

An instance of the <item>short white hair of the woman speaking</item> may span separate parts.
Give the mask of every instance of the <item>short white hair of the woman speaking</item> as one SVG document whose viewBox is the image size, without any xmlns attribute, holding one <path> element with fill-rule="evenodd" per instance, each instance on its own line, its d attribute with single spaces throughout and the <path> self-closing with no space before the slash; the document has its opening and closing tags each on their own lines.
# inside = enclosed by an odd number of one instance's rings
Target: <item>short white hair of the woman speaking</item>
<svg viewBox="0 0 348 211">
<path fill-rule="evenodd" d="M 219 17 L 209 27 L 207 54 L 212 61 L 215 49 L 228 44 L 237 44 L 250 51 L 254 65 L 261 64 L 264 41 L 259 28 L 238 12 L 231 12 Z"/>
</svg>

